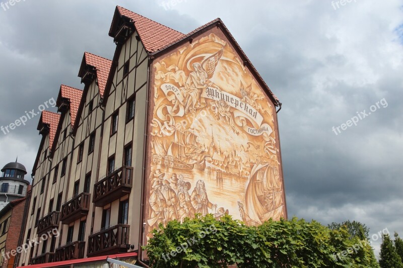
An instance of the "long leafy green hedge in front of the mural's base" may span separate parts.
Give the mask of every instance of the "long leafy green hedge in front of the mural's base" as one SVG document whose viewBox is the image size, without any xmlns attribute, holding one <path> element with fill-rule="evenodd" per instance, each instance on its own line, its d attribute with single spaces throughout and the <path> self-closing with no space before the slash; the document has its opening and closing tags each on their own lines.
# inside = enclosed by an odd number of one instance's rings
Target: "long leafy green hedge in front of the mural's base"
<svg viewBox="0 0 403 268">
<path fill-rule="evenodd" d="M 160 225 L 145 249 L 152 267 L 379 267 L 368 239 L 297 218 L 246 226 L 198 215 Z"/>
</svg>

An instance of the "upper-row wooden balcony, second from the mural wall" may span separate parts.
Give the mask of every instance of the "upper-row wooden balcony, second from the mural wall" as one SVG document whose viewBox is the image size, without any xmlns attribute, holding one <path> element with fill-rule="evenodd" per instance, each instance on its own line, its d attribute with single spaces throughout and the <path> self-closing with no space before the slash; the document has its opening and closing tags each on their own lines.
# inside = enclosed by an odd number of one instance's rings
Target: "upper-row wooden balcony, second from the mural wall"
<svg viewBox="0 0 403 268">
<path fill-rule="evenodd" d="M 69 224 L 88 214 L 91 194 L 81 193 L 61 206 L 61 223 Z"/>
</svg>

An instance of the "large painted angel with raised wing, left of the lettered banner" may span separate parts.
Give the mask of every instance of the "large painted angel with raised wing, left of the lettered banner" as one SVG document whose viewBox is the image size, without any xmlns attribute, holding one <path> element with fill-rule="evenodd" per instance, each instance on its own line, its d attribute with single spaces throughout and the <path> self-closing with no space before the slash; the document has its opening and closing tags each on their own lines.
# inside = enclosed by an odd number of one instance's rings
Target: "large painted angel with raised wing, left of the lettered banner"
<svg viewBox="0 0 403 268">
<path fill-rule="evenodd" d="M 189 74 L 184 87 L 182 87 L 183 96 L 185 98 L 185 113 L 195 113 L 196 108 L 201 106 L 200 96 L 203 90 L 212 85 L 210 79 L 214 75 L 218 61 L 223 55 L 224 47 L 215 54 L 207 57 L 203 62 L 195 62 L 192 64 L 194 71 Z"/>
</svg>

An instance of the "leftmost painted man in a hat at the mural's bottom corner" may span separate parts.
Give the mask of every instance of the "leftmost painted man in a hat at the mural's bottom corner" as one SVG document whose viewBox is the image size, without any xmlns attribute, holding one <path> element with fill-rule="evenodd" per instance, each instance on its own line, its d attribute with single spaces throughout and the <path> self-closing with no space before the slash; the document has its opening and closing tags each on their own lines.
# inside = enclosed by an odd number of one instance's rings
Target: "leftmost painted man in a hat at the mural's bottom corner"
<svg viewBox="0 0 403 268">
<path fill-rule="evenodd" d="M 153 192 L 150 196 L 150 219 L 148 224 L 151 229 L 158 228 L 160 222 L 166 223 L 167 218 L 167 202 L 164 195 L 162 194 L 162 183 L 161 181 L 155 181 L 152 186 Z"/>
</svg>

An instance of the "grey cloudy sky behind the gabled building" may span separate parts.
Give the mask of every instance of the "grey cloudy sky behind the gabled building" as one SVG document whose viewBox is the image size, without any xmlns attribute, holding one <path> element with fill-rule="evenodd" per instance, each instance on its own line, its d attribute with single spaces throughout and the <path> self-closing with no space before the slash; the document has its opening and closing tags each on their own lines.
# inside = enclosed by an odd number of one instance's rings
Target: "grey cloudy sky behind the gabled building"
<svg viewBox="0 0 403 268">
<path fill-rule="evenodd" d="M 388 228 L 403 236 L 403 1 L 337 2 L 4 5 L 0 126 L 56 99 L 61 83 L 83 88 L 77 74 L 85 51 L 112 59 L 108 31 L 116 5 L 182 33 L 219 17 L 283 103 L 279 124 L 289 216 L 323 224 L 358 220 L 371 235 Z M 32 170 L 41 138 L 38 120 L 39 115 L 0 132 L 0 165 L 18 155 Z M 376 252 L 379 242 L 373 243 Z"/>
</svg>

